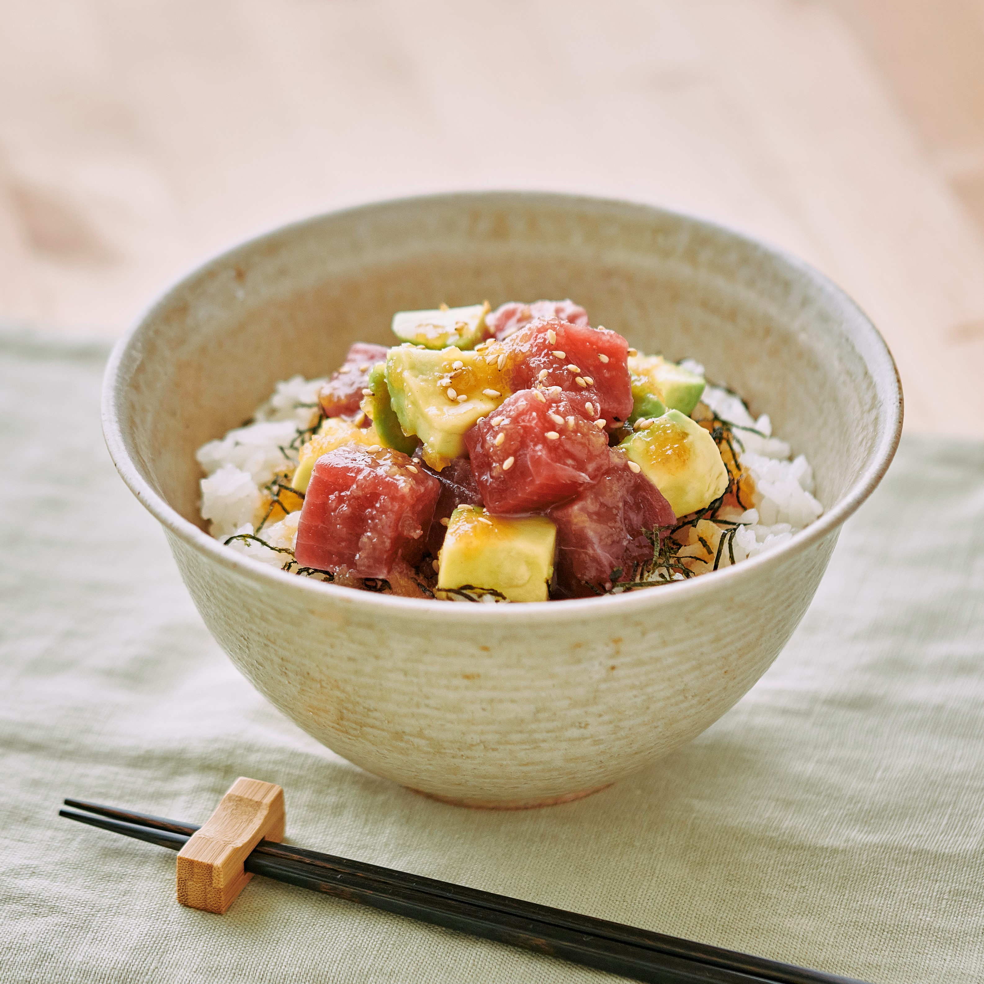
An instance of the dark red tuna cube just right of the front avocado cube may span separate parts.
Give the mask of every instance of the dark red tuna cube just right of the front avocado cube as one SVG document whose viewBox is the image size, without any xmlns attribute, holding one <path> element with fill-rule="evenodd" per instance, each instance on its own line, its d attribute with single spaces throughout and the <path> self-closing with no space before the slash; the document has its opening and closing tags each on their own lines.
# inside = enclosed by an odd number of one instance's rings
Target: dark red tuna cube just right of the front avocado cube
<svg viewBox="0 0 984 984">
<path fill-rule="evenodd" d="M 652 557 L 643 530 L 676 523 L 659 489 L 614 449 L 601 478 L 548 515 L 557 524 L 557 587 L 569 597 L 594 594 L 588 584 L 604 590 L 619 568 L 628 581 L 633 565 Z"/>
</svg>

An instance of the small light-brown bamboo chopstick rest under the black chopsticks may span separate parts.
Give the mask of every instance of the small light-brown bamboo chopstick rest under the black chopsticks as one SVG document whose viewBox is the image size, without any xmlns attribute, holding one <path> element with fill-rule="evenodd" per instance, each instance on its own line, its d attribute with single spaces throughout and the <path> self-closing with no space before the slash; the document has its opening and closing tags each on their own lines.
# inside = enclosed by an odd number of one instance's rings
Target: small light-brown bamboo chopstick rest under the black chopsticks
<svg viewBox="0 0 984 984">
<path fill-rule="evenodd" d="M 282 840 L 283 789 L 240 776 L 178 852 L 178 901 L 219 915 L 253 877 L 243 862 L 261 840 Z"/>
</svg>

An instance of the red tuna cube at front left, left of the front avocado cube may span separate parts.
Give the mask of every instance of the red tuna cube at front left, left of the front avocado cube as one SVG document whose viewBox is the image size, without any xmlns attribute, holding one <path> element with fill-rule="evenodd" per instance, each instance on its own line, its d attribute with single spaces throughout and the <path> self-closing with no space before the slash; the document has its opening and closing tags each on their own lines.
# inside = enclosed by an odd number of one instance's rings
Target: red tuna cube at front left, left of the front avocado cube
<svg viewBox="0 0 984 984">
<path fill-rule="evenodd" d="M 388 448 L 346 445 L 315 462 L 294 559 L 321 571 L 385 578 L 399 557 L 423 556 L 441 483 Z"/>
</svg>

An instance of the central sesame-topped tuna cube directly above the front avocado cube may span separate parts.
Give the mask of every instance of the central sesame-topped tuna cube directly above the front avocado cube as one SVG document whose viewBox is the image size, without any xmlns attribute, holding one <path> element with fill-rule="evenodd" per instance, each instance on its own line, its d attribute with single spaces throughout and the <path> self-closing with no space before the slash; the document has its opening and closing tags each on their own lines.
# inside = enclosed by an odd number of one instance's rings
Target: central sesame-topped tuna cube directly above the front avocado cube
<svg viewBox="0 0 984 984">
<path fill-rule="evenodd" d="M 584 418 L 584 399 L 554 390 L 514 393 L 464 441 L 491 513 L 547 509 L 608 466 L 608 439 Z"/>
</svg>

